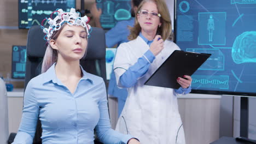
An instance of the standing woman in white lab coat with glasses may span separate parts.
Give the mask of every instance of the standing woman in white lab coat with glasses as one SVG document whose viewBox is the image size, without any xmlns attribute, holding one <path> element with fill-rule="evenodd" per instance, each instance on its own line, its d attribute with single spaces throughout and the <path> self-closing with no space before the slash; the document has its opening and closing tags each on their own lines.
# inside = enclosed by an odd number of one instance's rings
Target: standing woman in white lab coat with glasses
<svg viewBox="0 0 256 144">
<path fill-rule="evenodd" d="M 179 89 L 144 85 L 174 50 L 180 50 L 168 40 L 170 34 L 166 3 L 144 0 L 131 28 L 131 41 L 121 44 L 115 57 L 117 85 L 129 93 L 116 130 L 138 137 L 141 143 L 185 143 L 177 95 L 191 91 L 191 77 L 177 77 Z"/>
</svg>

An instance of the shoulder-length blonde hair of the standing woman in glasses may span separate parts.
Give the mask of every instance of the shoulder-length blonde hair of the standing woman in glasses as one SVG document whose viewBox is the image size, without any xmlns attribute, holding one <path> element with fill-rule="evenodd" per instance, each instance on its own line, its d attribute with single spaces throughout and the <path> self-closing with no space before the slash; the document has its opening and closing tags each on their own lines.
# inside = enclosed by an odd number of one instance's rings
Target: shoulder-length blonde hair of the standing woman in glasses
<svg viewBox="0 0 256 144">
<path fill-rule="evenodd" d="M 156 33 L 160 34 L 163 40 L 170 38 L 170 35 L 172 33 L 172 23 L 171 23 L 169 10 L 164 0 L 143 0 L 141 4 L 139 4 L 136 14 L 138 14 L 138 11 L 141 10 L 143 4 L 147 2 L 155 3 L 156 7 L 158 8 L 158 13 L 161 14 L 160 22 L 162 23 L 162 25 L 158 27 L 158 30 L 156 31 Z M 139 32 L 141 32 L 141 26 L 139 26 L 137 16 L 135 17 L 136 17 L 135 25 L 133 27 L 129 27 L 130 29 L 130 35 L 128 36 L 129 40 L 136 39 L 139 35 Z"/>
</svg>

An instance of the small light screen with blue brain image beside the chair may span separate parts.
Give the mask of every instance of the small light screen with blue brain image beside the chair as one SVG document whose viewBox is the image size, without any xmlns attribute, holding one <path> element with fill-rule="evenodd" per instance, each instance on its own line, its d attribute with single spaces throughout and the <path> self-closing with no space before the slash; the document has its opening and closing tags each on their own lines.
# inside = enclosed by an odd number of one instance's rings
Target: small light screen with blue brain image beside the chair
<svg viewBox="0 0 256 144">
<path fill-rule="evenodd" d="M 107 80 L 110 80 L 110 75 L 113 71 L 113 64 L 117 48 L 106 48 L 106 75 Z"/>
</svg>

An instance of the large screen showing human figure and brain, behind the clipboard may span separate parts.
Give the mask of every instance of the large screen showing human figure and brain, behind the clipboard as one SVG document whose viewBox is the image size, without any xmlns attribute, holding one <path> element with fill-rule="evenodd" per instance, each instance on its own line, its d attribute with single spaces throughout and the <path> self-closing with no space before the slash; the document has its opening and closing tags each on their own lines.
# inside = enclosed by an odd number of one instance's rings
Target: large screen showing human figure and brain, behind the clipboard
<svg viewBox="0 0 256 144">
<path fill-rule="evenodd" d="M 192 75 L 194 92 L 256 95 L 256 1 L 177 0 L 176 44 L 212 56 Z"/>
</svg>

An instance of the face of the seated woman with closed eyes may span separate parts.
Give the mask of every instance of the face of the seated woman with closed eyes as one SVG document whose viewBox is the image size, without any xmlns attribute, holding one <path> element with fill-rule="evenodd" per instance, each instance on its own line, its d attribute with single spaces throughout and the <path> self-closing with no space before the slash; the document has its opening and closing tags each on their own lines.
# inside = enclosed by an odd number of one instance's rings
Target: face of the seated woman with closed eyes
<svg viewBox="0 0 256 144">
<path fill-rule="evenodd" d="M 50 40 L 51 47 L 58 51 L 58 58 L 66 61 L 77 61 L 83 58 L 88 41 L 87 33 L 82 26 L 63 27 L 56 40 Z"/>
</svg>

